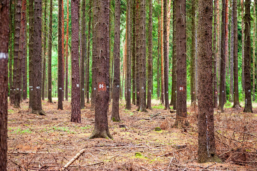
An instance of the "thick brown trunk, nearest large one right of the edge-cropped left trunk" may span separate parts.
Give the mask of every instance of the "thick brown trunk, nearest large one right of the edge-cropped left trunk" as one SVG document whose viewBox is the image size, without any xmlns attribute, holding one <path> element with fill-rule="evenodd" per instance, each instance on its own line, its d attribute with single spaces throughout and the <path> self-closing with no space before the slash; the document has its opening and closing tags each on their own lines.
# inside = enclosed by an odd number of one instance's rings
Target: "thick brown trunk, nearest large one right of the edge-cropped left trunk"
<svg viewBox="0 0 257 171">
<path fill-rule="evenodd" d="M 24 4 L 22 4 L 22 1 L 21 0 L 17 0 L 17 5 L 16 5 L 16 16 L 15 16 L 15 19 L 17 19 L 16 17 L 19 17 L 19 20 L 16 21 L 17 25 L 15 25 L 15 27 L 18 27 L 19 28 L 15 28 L 19 29 L 19 38 L 17 39 L 17 41 L 19 40 L 19 42 L 15 42 L 18 43 L 18 56 L 16 57 L 16 73 L 15 73 L 15 91 L 14 91 L 14 104 L 13 104 L 13 107 L 14 108 L 20 108 L 20 99 L 21 99 L 21 96 L 20 96 L 20 89 L 21 89 L 21 80 L 22 80 L 22 76 L 21 76 L 21 62 L 22 62 L 22 50 L 23 50 L 23 33 L 24 33 L 24 28 L 25 28 L 25 21 L 24 21 L 24 15 L 25 15 L 25 11 L 24 11 L 24 7 L 22 6 Z M 21 8 L 22 7 L 22 8 Z M 22 14 L 21 14 L 22 13 Z M 22 16 L 22 19 L 21 19 L 21 16 Z M 18 23 L 19 22 L 19 23 Z M 15 35 L 17 36 L 17 35 Z M 15 49 L 16 51 L 16 49 Z"/>
</svg>

